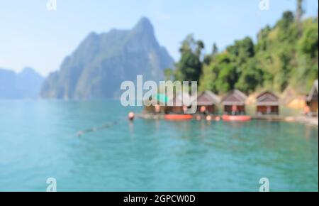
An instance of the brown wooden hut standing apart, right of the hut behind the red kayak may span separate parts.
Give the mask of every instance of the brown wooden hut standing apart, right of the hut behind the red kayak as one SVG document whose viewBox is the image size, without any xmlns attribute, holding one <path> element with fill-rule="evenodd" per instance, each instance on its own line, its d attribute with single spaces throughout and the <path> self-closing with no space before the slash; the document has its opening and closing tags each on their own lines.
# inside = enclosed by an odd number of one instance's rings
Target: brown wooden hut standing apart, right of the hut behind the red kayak
<svg viewBox="0 0 319 206">
<path fill-rule="evenodd" d="M 257 115 L 279 115 L 279 97 L 272 92 L 262 92 L 257 96 Z"/>
</svg>

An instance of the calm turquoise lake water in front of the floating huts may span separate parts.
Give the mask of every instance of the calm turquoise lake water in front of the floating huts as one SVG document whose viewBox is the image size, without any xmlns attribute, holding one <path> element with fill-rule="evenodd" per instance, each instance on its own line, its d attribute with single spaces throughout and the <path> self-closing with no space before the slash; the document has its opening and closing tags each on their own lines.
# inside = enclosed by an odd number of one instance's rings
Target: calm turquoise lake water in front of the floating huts
<svg viewBox="0 0 319 206">
<path fill-rule="evenodd" d="M 0 191 L 45 191 L 50 177 L 58 191 L 258 191 L 264 177 L 271 191 L 318 191 L 318 127 L 130 123 L 130 110 L 116 101 L 0 102 Z"/>
</svg>

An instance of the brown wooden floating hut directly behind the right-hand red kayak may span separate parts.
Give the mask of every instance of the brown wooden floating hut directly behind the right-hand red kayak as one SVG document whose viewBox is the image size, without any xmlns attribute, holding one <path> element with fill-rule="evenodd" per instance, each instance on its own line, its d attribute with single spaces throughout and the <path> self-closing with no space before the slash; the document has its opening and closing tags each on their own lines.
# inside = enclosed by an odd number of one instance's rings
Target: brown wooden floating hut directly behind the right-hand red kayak
<svg viewBox="0 0 319 206">
<path fill-rule="evenodd" d="M 246 99 L 246 94 L 240 92 L 240 90 L 228 92 L 221 101 L 224 107 L 224 113 L 230 115 L 245 114 Z"/>
</svg>

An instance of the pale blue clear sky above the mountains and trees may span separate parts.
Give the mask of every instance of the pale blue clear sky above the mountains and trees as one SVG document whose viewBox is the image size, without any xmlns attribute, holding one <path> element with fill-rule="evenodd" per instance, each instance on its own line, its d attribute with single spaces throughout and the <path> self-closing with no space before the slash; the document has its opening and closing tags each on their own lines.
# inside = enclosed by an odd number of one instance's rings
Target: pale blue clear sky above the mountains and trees
<svg viewBox="0 0 319 206">
<path fill-rule="evenodd" d="M 234 40 L 255 38 L 260 28 L 274 25 L 283 11 L 294 11 L 296 0 L 0 0 L 0 67 L 20 71 L 33 67 L 42 75 L 58 70 L 65 56 L 91 31 L 132 28 L 142 16 L 150 18 L 157 40 L 175 60 L 181 40 L 189 33 L 220 49 Z M 306 16 L 315 16 L 318 2 L 306 0 Z"/>
</svg>

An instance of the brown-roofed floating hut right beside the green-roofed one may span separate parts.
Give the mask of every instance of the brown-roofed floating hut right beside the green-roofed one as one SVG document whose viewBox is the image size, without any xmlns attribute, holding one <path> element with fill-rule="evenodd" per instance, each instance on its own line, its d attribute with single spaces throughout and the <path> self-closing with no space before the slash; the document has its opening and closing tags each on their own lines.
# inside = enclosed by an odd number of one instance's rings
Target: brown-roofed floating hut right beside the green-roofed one
<svg viewBox="0 0 319 206">
<path fill-rule="evenodd" d="M 169 101 L 168 112 L 174 114 L 184 114 L 186 109 L 191 107 L 192 101 L 191 95 L 188 93 L 180 93 Z"/>
</svg>

